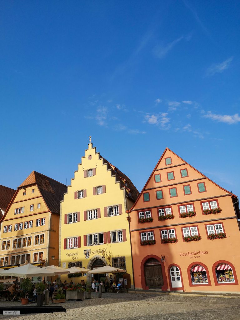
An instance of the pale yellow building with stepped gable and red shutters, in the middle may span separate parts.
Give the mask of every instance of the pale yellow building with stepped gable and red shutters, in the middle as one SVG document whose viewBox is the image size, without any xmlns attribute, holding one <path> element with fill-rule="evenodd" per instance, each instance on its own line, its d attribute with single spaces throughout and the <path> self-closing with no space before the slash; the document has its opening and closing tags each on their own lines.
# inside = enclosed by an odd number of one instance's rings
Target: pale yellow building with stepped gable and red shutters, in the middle
<svg viewBox="0 0 240 320">
<path fill-rule="evenodd" d="M 110 264 L 126 269 L 133 284 L 126 210 L 138 194 L 132 181 L 100 156 L 90 139 L 60 204 L 60 266 L 94 269 Z M 93 275 L 83 274 L 75 281 L 81 279 L 90 283 Z"/>
</svg>

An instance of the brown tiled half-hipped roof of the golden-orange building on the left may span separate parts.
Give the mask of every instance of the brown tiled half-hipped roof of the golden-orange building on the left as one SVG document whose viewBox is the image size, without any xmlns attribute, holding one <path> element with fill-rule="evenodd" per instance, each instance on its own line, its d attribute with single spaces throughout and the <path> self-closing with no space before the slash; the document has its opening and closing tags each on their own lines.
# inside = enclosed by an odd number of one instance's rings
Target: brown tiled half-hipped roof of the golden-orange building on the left
<svg viewBox="0 0 240 320">
<path fill-rule="evenodd" d="M 28 178 L 18 188 L 24 188 L 36 184 L 51 212 L 60 212 L 60 201 L 67 192 L 67 186 L 45 176 L 42 173 L 33 171 Z"/>
</svg>

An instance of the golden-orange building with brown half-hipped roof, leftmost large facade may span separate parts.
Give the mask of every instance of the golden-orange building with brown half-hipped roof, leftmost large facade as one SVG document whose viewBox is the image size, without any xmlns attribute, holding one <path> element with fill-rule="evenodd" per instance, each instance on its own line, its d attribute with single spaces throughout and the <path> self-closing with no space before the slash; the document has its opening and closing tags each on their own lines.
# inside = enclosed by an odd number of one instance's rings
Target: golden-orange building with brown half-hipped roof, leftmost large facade
<svg viewBox="0 0 240 320">
<path fill-rule="evenodd" d="M 66 191 L 67 186 L 36 171 L 21 183 L 0 220 L 0 268 L 25 260 L 36 266 L 57 262 L 51 257 L 58 259 L 60 201 Z"/>
</svg>

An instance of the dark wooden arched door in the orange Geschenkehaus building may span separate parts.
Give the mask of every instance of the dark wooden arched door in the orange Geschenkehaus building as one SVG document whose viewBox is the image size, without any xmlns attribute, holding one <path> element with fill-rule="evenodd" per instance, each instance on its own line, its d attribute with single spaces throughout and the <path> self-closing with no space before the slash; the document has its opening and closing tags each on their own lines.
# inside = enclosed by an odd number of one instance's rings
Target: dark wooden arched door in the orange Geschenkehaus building
<svg viewBox="0 0 240 320">
<path fill-rule="evenodd" d="M 164 283 L 160 261 L 155 258 L 148 259 L 144 265 L 144 274 L 146 286 L 149 289 L 162 288 Z"/>
</svg>

